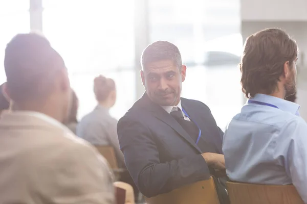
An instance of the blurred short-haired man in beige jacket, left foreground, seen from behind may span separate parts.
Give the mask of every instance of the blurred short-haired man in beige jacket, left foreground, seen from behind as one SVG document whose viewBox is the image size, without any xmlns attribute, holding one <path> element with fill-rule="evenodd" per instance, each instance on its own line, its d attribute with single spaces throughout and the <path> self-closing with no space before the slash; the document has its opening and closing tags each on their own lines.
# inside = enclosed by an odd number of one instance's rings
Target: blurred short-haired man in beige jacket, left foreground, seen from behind
<svg viewBox="0 0 307 204">
<path fill-rule="evenodd" d="M 12 111 L 0 120 L 0 203 L 114 203 L 111 172 L 62 122 L 71 88 L 61 56 L 37 34 L 5 50 Z"/>
</svg>

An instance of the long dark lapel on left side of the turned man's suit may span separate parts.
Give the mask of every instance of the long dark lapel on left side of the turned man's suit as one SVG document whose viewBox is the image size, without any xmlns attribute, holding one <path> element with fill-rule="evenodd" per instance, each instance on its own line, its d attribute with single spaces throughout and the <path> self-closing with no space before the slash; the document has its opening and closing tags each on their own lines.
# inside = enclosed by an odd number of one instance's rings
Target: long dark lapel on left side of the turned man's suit
<svg viewBox="0 0 307 204">
<path fill-rule="evenodd" d="M 174 131 L 176 131 L 181 137 L 183 137 L 191 146 L 193 146 L 200 153 L 202 153 L 201 149 L 195 144 L 195 142 L 189 136 L 189 134 L 169 113 L 167 113 L 161 106 L 153 103 L 148 98 L 146 93 L 143 95 L 142 100 L 143 100 L 143 105 L 146 106 L 146 108 L 150 110 L 156 118 L 169 125 Z"/>
</svg>

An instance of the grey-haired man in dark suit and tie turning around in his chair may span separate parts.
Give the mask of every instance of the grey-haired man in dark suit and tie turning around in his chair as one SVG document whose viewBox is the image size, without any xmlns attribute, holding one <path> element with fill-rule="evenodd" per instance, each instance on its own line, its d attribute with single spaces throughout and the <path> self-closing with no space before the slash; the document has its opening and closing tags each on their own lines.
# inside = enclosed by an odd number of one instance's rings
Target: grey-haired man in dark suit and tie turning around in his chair
<svg viewBox="0 0 307 204">
<path fill-rule="evenodd" d="M 141 61 L 146 93 L 117 126 L 125 164 L 139 190 L 156 196 L 224 170 L 223 132 L 210 109 L 180 97 L 186 66 L 178 47 L 152 43 Z"/>
</svg>

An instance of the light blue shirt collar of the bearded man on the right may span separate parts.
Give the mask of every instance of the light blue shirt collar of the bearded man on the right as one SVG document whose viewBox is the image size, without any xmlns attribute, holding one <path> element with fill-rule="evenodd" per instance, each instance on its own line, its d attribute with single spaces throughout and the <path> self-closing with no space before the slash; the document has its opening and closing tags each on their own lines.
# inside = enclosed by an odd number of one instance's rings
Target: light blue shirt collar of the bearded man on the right
<svg viewBox="0 0 307 204">
<path fill-rule="evenodd" d="M 298 104 L 295 104 L 291 101 L 284 100 L 284 99 L 277 98 L 277 97 L 270 96 L 270 95 L 266 95 L 266 94 L 257 93 L 252 98 L 252 100 L 264 102 L 267 104 L 272 104 L 274 106 L 277 106 L 278 109 L 285 111 L 285 112 L 290 112 L 294 115 L 298 114 L 298 110 L 300 108 Z"/>
</svg>

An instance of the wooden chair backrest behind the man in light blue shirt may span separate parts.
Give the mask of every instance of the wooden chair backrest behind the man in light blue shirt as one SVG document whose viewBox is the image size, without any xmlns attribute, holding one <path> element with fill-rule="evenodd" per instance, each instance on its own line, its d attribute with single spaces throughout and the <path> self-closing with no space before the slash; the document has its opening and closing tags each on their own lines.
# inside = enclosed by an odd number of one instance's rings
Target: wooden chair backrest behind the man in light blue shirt
<svg viewBox="0 0 307 204">
<path fill-rule="evenodd" d="M 231 204 L 304 204 L 293 185 L 226 182 Z"/>
</svg>

